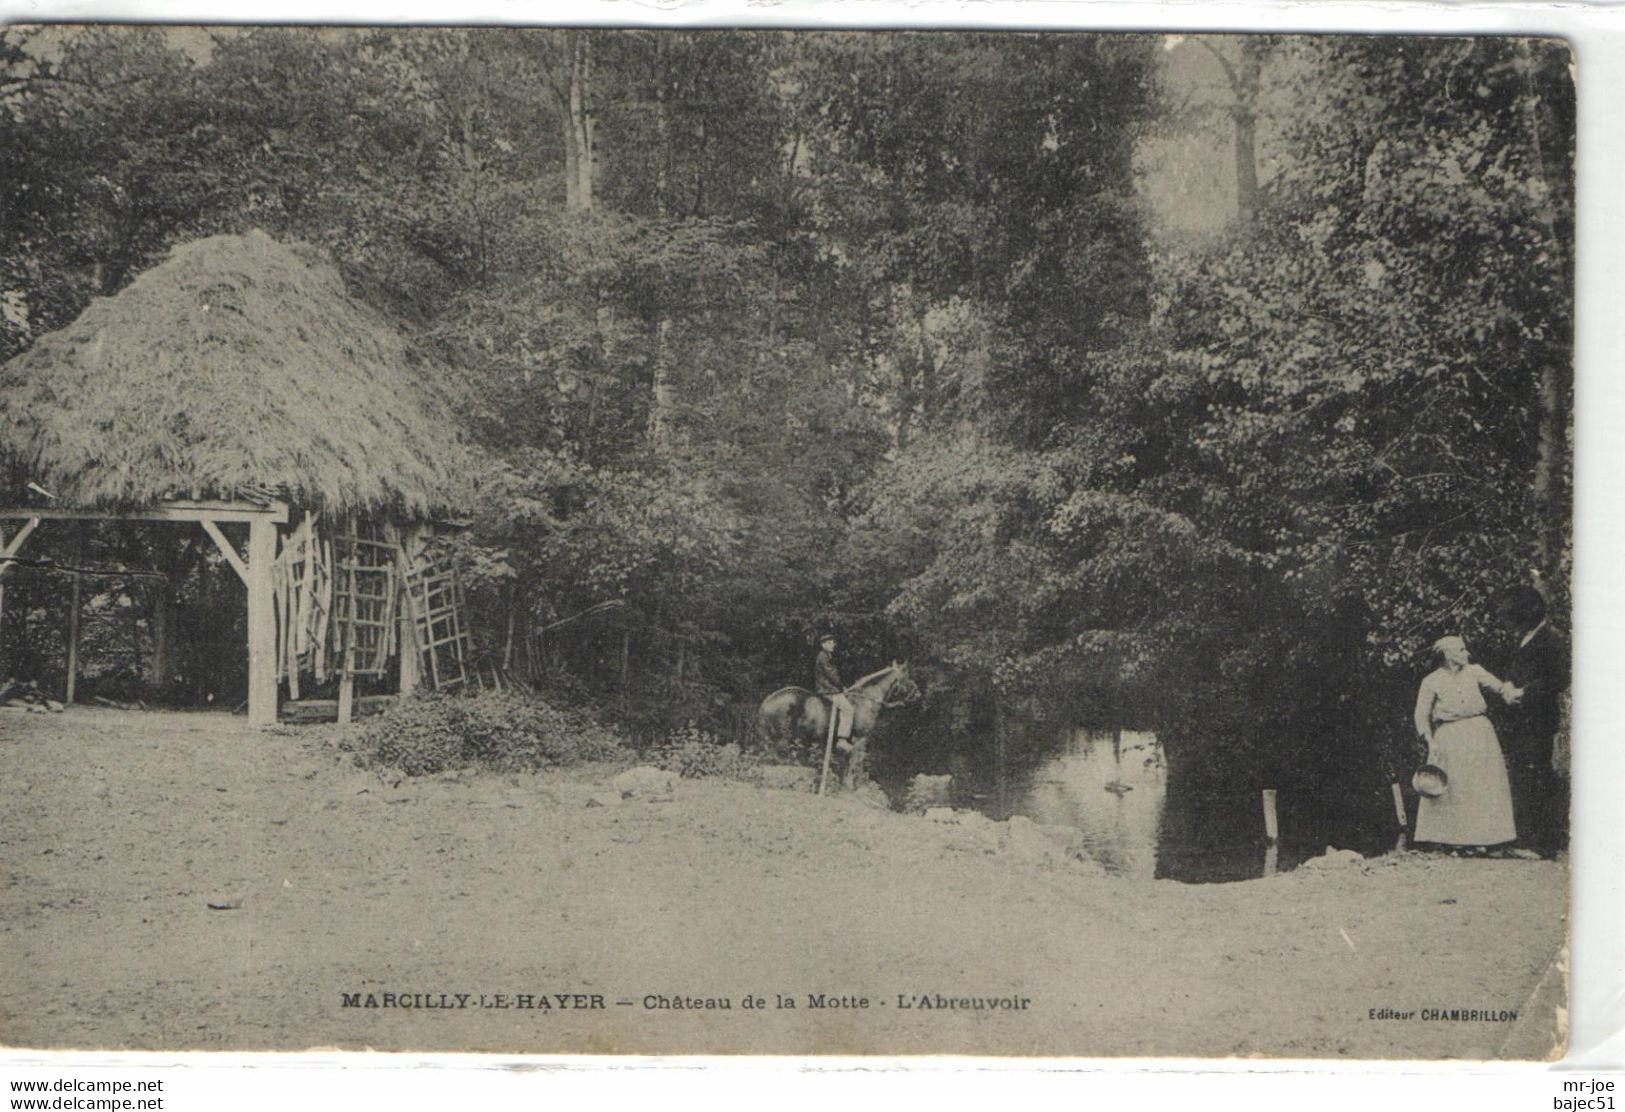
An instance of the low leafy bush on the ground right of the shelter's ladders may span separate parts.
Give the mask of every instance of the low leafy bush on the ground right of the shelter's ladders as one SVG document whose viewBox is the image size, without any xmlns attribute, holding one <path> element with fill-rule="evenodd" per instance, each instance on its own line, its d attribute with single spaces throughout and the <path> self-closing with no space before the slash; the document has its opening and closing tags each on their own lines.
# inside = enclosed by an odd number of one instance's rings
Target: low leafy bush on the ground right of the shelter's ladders
<svg viewBox="0 0 1625 1112">
<path fill-rule="evenodd" d="M 418 694 L 361 722 L 356 741 L 362 762 L 408 775 L 471 764 L 512 772 L 621 754 L 619 740 L 590 717 L 509 691 Z"/>
</svg>

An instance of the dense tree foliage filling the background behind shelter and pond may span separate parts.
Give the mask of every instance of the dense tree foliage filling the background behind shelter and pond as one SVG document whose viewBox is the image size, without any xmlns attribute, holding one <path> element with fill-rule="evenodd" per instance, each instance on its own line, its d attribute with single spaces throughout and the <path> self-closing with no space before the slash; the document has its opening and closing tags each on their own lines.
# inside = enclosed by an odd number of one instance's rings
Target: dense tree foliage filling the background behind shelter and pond
<svg viewBox="0 0 1625 1112">
<path fill-rule="evenodd" d="M 1402 736 L 1531 569 L 1566 605 L 1573 89 L 1545 42 L 1254 41 L 1248 206 L 1175 236 L 1162 46 L 5 31 L 0 356 L 172 244 L 309 241 L 460 369 L 483 650 L 549 697 L 744 738 L 832 624 L 915 658 L 910 771 L 1019 714 L 1274 779 Z"/>
</svg>

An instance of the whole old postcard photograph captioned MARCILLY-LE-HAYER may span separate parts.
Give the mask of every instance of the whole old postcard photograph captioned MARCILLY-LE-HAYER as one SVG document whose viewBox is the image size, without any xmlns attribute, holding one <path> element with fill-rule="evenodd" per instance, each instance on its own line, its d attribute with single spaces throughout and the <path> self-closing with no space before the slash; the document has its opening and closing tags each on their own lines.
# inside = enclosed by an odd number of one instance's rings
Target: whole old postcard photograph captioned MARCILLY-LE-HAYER
<svg viewBox="0 0 1625 1112">
<path fill-rule="evenodd" d="M 0 28 L 0 1045 L 1562 1058 L 1573 59 Z"/>
</svg>

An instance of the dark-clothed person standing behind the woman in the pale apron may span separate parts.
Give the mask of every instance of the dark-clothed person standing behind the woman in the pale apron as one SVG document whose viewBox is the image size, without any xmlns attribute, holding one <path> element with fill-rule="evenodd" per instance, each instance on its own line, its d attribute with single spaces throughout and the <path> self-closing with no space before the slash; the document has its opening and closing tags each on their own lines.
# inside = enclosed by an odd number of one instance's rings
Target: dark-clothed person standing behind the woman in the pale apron
<svg viewBox="0 0 1625 1112">
<path fill-rule="evenodd" d="M 1518 839 L 1540 857 L 1552 857 L 1563 849 L 1568 827 L 1568 790 L 1552 767 L 1568 691 L 1568 645 L 1552 629 L 1545 598 L 1534 587 L 1514 589 L 1502 613 L 1519 639 L 1506 678 L 1524 691 L 1523 701 L 1506 710 L 1505 732 Z"/>
</svg>

